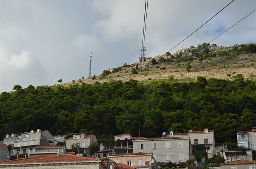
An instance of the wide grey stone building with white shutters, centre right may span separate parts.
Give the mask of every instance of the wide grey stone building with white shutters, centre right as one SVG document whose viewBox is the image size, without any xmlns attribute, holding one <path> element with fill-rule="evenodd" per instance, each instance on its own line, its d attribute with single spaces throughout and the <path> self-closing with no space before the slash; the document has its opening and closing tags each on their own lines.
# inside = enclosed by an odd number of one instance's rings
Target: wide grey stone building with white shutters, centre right
<svg viewBox="0 0 256 169">
<path fill-rule="evenodd" d="M 133 140 L 133 153 L 152 153 L 158 162 L 185 162 L 192 159 L 190 138 L 162 137 Z"/>
</svg>

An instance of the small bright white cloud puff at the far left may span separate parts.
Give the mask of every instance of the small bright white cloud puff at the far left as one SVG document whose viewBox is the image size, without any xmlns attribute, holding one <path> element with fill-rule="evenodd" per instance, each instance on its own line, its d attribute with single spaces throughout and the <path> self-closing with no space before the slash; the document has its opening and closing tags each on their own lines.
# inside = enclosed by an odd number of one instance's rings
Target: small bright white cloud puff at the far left
<svg viewBox="0 0 256 169">
<path fill-rule="evenodd" d="M 20 55 L 12 55 L 10 64 L 18 69 L 24 69 L 30 62 L 29 54 L 29 51 L 22 50 Z"/>
</svg>

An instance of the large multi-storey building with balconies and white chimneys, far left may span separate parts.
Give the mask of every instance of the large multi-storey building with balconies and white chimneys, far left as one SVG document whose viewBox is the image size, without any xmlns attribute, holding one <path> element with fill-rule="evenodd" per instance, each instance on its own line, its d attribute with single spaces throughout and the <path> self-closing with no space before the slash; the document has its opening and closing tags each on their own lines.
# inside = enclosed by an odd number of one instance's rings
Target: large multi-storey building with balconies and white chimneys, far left
<svg viewBox="0 0 256 169">
<path fill-rule="evenodd" d="M 50 146 L 47 139 L 53 138 L 48 130 L 31 130 L 22 134 L 6 135 L 4 143 L 12 145 L 11 155 L 28 154 L 28 152 L 36 146 Z"/>
</svg>

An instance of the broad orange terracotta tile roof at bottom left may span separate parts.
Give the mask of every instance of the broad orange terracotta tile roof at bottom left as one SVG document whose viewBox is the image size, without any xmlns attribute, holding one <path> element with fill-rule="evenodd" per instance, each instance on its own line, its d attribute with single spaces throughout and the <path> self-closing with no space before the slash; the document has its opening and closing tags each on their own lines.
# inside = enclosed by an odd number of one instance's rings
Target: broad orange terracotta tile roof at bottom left
<svg viewBox="0 0 256 169">
<path fill-rule="evenodd" d="M 94 161 L 99 159 L 93 159 L 88 157 L 82 157 L 72 154 L 62 154 L 62 155 L 42 155 L 37 157 L 29 157 L 22 159 L 14 159 L 8 161 L 0 161 L 0 164 L 7 163 L 46 163 L 46 162 L 63 162 L 63 161 Z"/>
</svg>

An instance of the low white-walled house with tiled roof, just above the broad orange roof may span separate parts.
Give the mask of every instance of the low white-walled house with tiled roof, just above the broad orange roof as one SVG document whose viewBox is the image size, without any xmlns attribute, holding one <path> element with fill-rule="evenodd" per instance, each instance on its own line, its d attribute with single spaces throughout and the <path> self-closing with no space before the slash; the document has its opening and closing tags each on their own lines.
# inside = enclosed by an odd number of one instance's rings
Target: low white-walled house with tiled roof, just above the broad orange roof
<svg viewBox="0 0 256 169">
<path fill-rule="evenodd" d="M 37 146 L 30 150 L 28 157 L 36 157 L 40 155 L 61 155 L 66 154 L 66 149 L 64 145 L 55 146 Z"/>
</svg>

